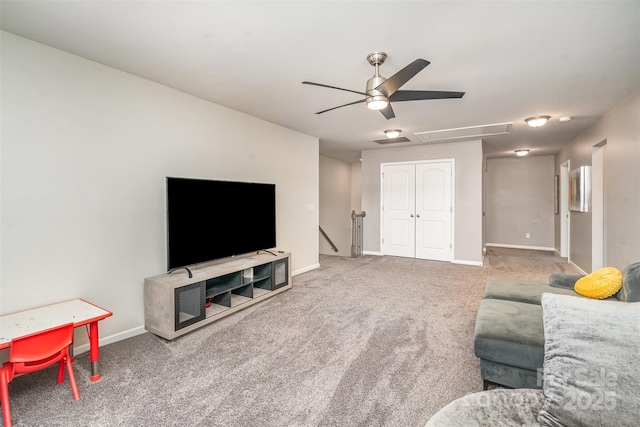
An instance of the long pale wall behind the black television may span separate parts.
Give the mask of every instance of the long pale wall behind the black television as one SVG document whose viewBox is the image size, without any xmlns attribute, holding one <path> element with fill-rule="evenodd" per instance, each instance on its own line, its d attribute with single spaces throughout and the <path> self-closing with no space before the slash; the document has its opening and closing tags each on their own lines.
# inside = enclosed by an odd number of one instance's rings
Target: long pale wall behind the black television
<svg viewBox="0 0 640 427">
<path fill-rule="evenodd" d="M 318 266 L 317 138 L 1 42 L 0 312 L 84 298 L 114 313 L 102 338 L 143 332 L 144 278 L 166 271 L 166 176 L 275 183 L 279 248 L 294 273 Z"/>
</svg>

